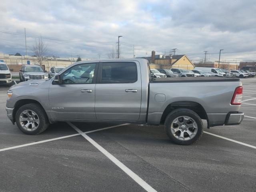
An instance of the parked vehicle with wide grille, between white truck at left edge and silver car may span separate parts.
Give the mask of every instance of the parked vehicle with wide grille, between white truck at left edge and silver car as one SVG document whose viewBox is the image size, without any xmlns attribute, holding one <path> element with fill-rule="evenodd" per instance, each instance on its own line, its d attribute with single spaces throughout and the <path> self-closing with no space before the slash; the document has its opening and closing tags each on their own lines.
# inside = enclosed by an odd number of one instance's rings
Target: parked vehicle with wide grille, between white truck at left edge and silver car
<svg viewBox="0 0 256 192">
<path fill-rule="evenodd" d="M 22 65 L 20 82 L 34 79 L 48 79 L 48 74 L 38 65 Z"/>
</svg>

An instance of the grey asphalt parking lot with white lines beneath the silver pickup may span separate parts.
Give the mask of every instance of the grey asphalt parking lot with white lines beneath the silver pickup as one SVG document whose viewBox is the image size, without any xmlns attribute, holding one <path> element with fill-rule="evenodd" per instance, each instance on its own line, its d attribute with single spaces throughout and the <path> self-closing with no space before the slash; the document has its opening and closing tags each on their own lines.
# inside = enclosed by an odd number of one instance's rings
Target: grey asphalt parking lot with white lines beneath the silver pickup
<svg viewBox="0 0 256 192">
<path fill-rule="evenodd" d="M 242 82 L 243 122 L 205 129 L 190 146 L 170 142 L 163 126 L 61 122 L 25 135 L 6 116 L 1 86 L 0 191 L 255 192 L 256 78 Z"/>
</svg>

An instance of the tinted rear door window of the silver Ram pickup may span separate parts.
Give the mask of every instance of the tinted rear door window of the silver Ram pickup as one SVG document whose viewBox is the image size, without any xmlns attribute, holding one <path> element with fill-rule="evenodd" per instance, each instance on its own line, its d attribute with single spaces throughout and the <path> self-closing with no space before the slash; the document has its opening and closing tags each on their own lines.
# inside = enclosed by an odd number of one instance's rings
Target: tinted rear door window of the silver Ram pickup
<svg viewBox="0 0 256 192">
<path fill-rule="evenodd" d="M 134 83 L 137 78 L 134 62 L 102 63 L 101 83 Z"/>
</svg>

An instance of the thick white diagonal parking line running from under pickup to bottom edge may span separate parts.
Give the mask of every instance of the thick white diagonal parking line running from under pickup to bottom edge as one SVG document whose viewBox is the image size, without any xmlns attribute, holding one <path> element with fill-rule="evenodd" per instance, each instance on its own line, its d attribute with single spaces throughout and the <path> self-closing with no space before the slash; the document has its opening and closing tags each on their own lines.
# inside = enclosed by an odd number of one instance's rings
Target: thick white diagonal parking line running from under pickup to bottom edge
<svg viewBox="0 0 256 192">
<path fill-rule="evenodd" d="M 109 158 L 114 164 L 116 164 L 120 169 L 122 169 L 128 176 L 130 176 L 135 182 L 137 182 L 142 188 L 148 192 L 156 192 L 149 184 L 147 184 L 142 178 L 136 175 L 132 170 L 126 167 L 122 162 L 105 150 L 102 146 L 96 143 L 92 138 L 83 133 L 80 129 L 74 126 L 72 123 L 67 122 L 72 128 L 74 128 L 78 133 L 80 133 L 86 140 L 88 140 L 94 147 L 96 147 L 100 152 L 102 152 L 107 158 Z"/>
</svg>

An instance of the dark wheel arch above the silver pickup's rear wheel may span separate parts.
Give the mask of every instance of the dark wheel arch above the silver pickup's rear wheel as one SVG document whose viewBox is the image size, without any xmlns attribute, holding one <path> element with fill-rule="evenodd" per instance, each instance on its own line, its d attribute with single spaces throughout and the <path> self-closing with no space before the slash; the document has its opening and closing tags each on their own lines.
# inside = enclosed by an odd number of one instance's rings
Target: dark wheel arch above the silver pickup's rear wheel
<svg viewBox="0 0 256 192">
<path fill-rule="evenodd" d="M 198 114 L 198 116 L 200 116 L 201 119 L 207 120 L 207 128 L 210 128 L 209 119 L 208 119 L 206 111 L 204 110 L 204 108 L 201 104 L 199 104 L 198 102 L 194 102 L 194 101 L 176 101 L 176 102 L 170 103 L 165 108 L 165 110 L 161 116 L 160 124 L 164 124 L 164 120 L 166 119 L 167 115 L 170 112 L 172 112 L 173 110 L 178 109 L 178 108 L 187 108 L 187 109 L 194 111 L 196 114 Z"/>
</svg>

